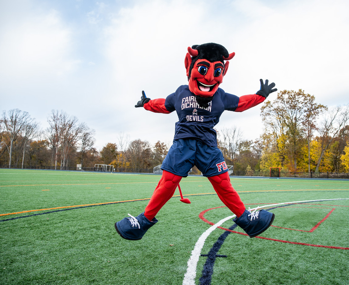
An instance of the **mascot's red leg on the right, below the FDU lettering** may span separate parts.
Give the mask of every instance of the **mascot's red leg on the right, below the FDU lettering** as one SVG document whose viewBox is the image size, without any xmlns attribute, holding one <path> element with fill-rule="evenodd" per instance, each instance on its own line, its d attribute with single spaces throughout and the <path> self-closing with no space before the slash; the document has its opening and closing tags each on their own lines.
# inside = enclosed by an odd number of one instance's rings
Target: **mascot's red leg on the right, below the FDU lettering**
<svg viewBox="0 0 349 285">
<path fill-rule="evenodd" d="M 246 207 L 241 201 L 239 194 L 231 185 L 228 172 L 207 178 L 210 180 L 214 190 L 217 192 L 218 197 L 222 200 L 224 205 L 237 217 L 240 217 L 244 213 Z"/>
</svg>

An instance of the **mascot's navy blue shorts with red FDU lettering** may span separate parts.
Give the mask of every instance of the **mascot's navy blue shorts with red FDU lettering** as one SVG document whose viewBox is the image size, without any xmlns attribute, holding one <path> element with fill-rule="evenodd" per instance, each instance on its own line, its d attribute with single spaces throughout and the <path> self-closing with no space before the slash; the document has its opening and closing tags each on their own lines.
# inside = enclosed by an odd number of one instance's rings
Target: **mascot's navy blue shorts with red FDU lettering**
<svg viewBox="0 0 349 285">
<path fill-rule="evenodd" d="M 178 176 L 187 177 L 188 172 L 196 166 L 203 176 L 210 177 L 228 171 L 223 154 L 216 146 L 208 146 L 195 139 L 178 139 L 173 141 L 161 169 Z"/>
</svg>

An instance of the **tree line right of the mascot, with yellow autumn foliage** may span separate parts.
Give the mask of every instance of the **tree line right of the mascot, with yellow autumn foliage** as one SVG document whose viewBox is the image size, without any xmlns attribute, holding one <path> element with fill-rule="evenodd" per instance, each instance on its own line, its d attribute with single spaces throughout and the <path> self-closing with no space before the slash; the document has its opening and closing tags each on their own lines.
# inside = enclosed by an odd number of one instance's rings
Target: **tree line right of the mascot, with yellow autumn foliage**
<svg viewBox="0 0 349 285">
<path fill-rule="evenodd" d="M 233 126 L 219 133 L 218 146 L 235 170 L 348 172 L 349 105 L 328 108 L 303 90 L 284 90 L 261 107 L 264 128 L 244 140 Z"/>
</svg>

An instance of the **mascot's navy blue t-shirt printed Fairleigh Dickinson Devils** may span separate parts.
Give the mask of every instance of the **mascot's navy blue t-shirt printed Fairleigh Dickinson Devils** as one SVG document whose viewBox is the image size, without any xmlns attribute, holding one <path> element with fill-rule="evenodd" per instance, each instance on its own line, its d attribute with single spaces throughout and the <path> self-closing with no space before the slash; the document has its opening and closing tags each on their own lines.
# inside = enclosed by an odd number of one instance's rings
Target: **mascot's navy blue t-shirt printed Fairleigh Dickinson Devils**
<svg viewBox="0 0 349 285">
<path fill-rule="evenodd" d="M 217 133 L 213 129 L 219 122 L 224 110 L 235 111 L 239 97 L 225 93 L 218 88 L 207 108 L 196 102 L 195 95 L 188 85 L 181 85 L 165 101 L 165 108 L 177 111 L 179 121 L 176 123 L 174 139 L 199 139 L 209 146 L 217 146 Z"/>
</svg>

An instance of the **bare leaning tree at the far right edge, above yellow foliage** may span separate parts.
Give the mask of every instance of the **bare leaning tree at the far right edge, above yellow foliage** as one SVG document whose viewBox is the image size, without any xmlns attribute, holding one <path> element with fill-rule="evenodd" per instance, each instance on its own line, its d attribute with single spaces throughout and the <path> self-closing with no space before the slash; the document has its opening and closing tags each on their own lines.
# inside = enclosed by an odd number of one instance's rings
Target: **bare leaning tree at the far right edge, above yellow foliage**
<svg viewBox="0 0 349 285">
<path fill-rule="evenodd" d="M 315 172 L 319 171 L 322 157 L 324 156 L 326 149 L 331 144 L 335 136 L 344 128 L 349 120 L 349 104 L 345 106 L 337 106 L 331 108 L 324 116 L 322 124 L 319 128 L 320 142 L 321 142 L 321 154 L 317 161 Z"/>
</svg>

